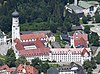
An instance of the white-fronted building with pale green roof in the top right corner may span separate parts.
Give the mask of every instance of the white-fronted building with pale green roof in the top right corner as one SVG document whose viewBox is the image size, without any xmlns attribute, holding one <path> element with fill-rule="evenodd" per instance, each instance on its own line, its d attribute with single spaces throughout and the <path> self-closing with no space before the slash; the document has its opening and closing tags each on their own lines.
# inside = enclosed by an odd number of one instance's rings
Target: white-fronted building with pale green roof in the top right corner
<svg viewBox="0 0 100 74">
<path fill-rule="evenodd" d="M 99 7 L 97 1 L 79 1 L 78 6 L 83 8 L 84 15 L 93 16 Z"/>
</svg>

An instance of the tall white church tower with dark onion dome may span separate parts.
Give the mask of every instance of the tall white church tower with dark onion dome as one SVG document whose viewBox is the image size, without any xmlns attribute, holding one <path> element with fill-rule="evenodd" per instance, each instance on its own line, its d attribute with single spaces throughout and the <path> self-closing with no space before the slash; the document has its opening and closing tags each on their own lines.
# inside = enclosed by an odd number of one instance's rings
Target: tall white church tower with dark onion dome
<svg viewBox="0 0 100 74">
<path fill-rule="evenodd" d="M 15 10 L 12 13 L 12 44 L 14 40 L 20 39 L 20 27 L 19 27 L 19 13 Z"/>
</svg>

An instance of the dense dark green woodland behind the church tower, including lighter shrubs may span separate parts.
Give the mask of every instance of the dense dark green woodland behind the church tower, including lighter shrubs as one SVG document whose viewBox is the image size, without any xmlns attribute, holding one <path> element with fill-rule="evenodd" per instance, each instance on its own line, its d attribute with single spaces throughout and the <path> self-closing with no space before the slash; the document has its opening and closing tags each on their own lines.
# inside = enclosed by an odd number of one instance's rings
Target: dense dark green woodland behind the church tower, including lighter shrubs
<svg viewBox="0 0 100 74">
<path fill-rule="evenodd" d="M 0 0 L 0 29 L 11 31 L 11 13 L 16 9 L 21 30 L 70 31 L 73 24 L 79 25 L 79 19 L 75 14 L 63 17 L 68 1 L 73 3 L 73 0 Z"/>
</svg>

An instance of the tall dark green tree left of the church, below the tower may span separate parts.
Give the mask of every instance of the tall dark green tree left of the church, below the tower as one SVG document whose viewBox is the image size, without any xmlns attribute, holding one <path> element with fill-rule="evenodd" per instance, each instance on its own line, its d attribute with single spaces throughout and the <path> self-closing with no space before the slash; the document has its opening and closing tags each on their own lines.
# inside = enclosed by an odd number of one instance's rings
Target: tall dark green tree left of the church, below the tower
<svg viewBox="0 0 100 74">
<path fill-rule="evenodd" d="M 7 54 L 6 54 L 6 64 L 9 67 L 15 67 L 15 61 L 16 61 L 16 57 L 15 57 L 14 50 L 10 48 L 8 49 Z"/>
</svg>

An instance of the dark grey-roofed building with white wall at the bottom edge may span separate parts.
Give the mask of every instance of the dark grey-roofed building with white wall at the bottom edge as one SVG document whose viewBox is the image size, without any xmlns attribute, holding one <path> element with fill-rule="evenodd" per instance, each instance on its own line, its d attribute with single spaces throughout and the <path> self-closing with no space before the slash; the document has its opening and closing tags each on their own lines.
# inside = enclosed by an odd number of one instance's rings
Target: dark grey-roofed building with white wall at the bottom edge
<svg viewBox="0 0 100 74">
<path fill-rule="evenodd" d="M 85 74 L 85 72 L 79 64 L 72 62 L 68 66 L 49 68 L 47 74 Z"/>
</svg>

